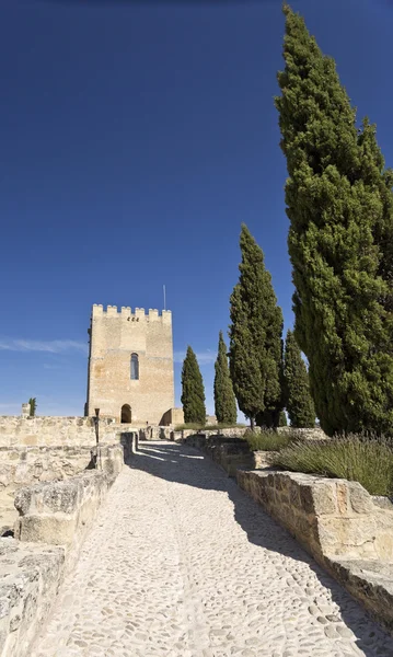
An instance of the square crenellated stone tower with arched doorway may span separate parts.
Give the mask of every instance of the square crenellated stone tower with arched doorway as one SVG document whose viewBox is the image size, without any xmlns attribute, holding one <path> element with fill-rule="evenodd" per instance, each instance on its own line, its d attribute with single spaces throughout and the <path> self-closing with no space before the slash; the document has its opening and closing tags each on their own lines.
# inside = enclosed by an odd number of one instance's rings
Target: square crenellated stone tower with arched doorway
<svg viewBox="0 0 393 657">
<path fill-rule="evenodd" d="M 93 306 L 85 415 L 161 424 L 174 406 L 172 313 Z"/>
</svg>

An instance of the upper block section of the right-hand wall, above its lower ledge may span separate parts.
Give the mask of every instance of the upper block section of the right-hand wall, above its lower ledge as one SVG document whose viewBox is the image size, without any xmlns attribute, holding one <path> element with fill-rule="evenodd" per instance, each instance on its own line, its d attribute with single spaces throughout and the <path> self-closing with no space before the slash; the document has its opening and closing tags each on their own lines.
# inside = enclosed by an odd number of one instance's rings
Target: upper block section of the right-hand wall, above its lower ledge
<svg viewBox="0 0 393 657">
<path fill-rule="evenodd" d="M 358 482 L 298 472 L 238 472 L 239 485 L 316 556 L 393 563 L 393 510 Z"/>
</svg>

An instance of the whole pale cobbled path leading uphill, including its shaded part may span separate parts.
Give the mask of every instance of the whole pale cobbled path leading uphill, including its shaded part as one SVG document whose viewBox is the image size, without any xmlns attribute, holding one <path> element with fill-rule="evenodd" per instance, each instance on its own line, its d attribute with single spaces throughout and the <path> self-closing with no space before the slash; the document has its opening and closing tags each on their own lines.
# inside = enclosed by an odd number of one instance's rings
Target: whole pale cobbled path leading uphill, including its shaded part
<svg viewBox="0 0 393 657">
<path fill-rule="evenodd" d="M 393 655 L 286 531 L 192 448 L 142 443 L 32 657 Z"/>
</svg>

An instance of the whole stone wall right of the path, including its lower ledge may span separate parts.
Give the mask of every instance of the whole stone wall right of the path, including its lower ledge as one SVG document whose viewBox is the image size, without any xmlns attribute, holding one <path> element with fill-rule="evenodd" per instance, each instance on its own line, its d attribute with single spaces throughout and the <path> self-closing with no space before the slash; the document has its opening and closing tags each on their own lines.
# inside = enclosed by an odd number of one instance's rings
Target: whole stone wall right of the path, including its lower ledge
<svg viewBox="0 0 393 657">
<path fill-rule="evenodd" d="M 393 507 L 345 480 L 265 470 L 238 483 L 393 632 Z"/>
</svg>

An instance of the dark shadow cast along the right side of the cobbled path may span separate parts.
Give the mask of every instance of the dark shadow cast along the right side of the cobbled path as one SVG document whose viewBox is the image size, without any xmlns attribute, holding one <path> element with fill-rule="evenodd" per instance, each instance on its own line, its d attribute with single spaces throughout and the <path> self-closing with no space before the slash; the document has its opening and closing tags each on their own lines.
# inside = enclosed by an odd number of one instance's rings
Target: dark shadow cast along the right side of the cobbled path
<svg viewBox="0 0 393 657">
<path fill-rule="evenodd" d="M 352 631 L 356 636 L 356 645 L 366 657 L 393 656 L 393 638 L 388 638 L 390 647 L 386 648 L 386 635 L 369 619 L 358 602 L 316 564 L 286 529 L 268 516 L 211 459 L 188 446 L 143 441 L 139 443 L 138 450 L 132 454 L 129 466 L 166 482 L 227 493 L 233 504 L 234 519 L 246 533 L 251 543 L 291 560 L 303 562 L 315 573 L 321 585 L 331 591 L 332 600 L 338 606 L 344 623 Z M 297 584 L 293 580 L 293 586 Z M 305 591 L 303 596 L 307 598 Z M 315 604 L 312 596 L 304 600 L 304 606 L 308 603 L 309 606 Z M 337 649 L 339 647 L 337 645 Z"/>
</svg>

